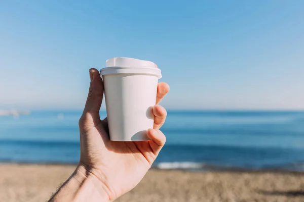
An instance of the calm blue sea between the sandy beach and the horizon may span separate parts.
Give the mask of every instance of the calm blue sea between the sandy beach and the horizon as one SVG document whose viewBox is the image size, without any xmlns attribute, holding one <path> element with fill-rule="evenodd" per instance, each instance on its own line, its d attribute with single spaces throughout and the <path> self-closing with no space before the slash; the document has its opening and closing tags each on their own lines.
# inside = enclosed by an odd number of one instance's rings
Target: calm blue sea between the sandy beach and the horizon
<svg viewBox="0 0 304 202">
<path fill-rule="evenodd" d="M 77 164 L 81 113 L 0 116 L 0 162 Z M 162 131 L 160 169 L 304 171 L 304 112 L 169 111 Z"/>
</svg>

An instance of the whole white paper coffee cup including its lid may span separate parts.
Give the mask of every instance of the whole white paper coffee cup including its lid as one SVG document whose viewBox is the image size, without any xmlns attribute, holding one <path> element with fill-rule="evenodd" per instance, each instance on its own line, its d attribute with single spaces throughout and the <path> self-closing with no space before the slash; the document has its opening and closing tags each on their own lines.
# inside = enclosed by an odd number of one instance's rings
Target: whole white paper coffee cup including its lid
<svg viewBox="0 0 304 202">
<path fill-rule="evenodd" d="M 151 107 L 156 104 L 161 70 L 153 62 L 132 58 L 111 58 L 100 70 L 112 141 L 148 140 L 153 128 Z"/>
</svg>

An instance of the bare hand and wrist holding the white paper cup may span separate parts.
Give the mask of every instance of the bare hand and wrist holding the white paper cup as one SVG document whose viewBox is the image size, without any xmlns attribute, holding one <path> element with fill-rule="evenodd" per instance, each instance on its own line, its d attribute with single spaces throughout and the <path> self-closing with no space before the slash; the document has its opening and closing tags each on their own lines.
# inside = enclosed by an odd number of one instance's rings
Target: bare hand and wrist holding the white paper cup
<svg viewBox="0 0 304 202">
<path fill-rule="evenodd" d="M 154 127 L 147 130 L 148 141 L 110 141 L 107 119 L 100 120 L 103 82 L 96 69 L 90 69 L 90 89 L 79 120 L 81 157 L 70 178 L 49 201 L 112 201 L 133 189 L 149 170 L 166 142 L 159 130 L 167 112 L 157 105 L 169 85 L 159 83 Z"/>
</svg>

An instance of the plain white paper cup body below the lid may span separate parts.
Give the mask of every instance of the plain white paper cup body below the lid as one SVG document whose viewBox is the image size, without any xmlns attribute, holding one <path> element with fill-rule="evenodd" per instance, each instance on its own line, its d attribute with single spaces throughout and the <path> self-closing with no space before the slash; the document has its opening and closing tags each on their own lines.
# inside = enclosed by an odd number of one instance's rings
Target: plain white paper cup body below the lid
<svg viewBox="0 0 304 202">
<path fill-rule="evenodd" d="M 105 104 L 112 141 L 148 140 L 153 128 L 158 76 L 143 73 L 102 75 Z"/>
</svg>

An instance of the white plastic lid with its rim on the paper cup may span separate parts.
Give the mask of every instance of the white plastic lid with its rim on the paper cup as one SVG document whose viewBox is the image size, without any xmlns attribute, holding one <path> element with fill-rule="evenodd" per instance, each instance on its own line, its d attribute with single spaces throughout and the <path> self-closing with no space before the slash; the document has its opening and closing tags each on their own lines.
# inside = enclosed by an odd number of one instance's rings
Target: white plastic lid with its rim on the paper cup
<svg viewBox="0 0 304 202">
<path fill-rule="evenodd" d="M 154 62 L 134 58 L 111 58 L 100 70 L 100 76 L 106 74 L 149 74 L 162 78 L 161 70 Z"/>
</svg>

